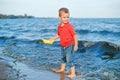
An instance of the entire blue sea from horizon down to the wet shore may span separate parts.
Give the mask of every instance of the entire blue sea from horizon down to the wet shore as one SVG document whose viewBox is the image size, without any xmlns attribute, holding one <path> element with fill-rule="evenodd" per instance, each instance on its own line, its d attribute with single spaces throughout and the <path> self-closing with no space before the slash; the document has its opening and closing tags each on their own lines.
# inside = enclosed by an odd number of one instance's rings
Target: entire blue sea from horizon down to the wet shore
<svg viewBox="0 0 120 80">
<path fill-rule="evenodd" d="M 86 78 L 91 72 L 97 74 L 93 77 L 98 79 L 104 77 L 100 74 L 104 72 L 120 78 L 120 18 L 71 18 L 70 22 L 79 39 L 75 55 L 76 72 Z M 36 69 L 52 71 L 59 68 L 59 39 L 53 45 L 45 45 L 41 41 L 54 36 L 58 24 L 57 18 L 0 19 L 3 54 Z"/>
</svg>

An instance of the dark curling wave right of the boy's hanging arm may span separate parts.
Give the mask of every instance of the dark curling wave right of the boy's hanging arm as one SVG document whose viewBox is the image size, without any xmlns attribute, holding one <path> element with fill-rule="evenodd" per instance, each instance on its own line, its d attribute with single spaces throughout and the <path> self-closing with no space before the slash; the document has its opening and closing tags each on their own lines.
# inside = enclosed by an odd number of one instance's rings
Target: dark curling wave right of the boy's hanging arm
<svg viewBox="0 0 120 80">
<path fill-rule="evenodd" d="M 79 52 L 95 53 L 101 59 L 120 59 L 120 45 L 106 41 L 79 41 Z"/>
</svg>

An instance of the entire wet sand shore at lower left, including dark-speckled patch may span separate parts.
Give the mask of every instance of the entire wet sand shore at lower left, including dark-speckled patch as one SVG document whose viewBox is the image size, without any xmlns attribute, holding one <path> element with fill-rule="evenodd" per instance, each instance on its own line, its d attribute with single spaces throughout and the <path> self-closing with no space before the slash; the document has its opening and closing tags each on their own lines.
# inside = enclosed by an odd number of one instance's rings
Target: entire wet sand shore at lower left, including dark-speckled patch
<svg viewBox="0 0 120 80">
<path fill-rule="evenodd" d="M 15 80 L 16 78 L 18 80 L 69 80 L 67 78 L 65 79 L 64 73 L 58 74 L 33 69 L 21 62 L 15 62 L 15 64 L 11 66 L 7 61 L 0 59 L 0 80 Z"/>
</svg>

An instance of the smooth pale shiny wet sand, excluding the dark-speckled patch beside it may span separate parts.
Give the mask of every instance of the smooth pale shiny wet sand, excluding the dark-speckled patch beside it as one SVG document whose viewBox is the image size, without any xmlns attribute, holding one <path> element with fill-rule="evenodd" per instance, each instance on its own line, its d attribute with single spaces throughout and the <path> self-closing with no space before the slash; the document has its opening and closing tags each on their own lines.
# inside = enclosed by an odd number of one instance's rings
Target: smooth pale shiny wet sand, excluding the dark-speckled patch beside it
<svg viewBox="0 0 120 80">
<path fill-rule="evenodd" d="M 65 79 L 63 73 L 57 74 L 50 71 L 32 69 L 22 63 L 17 63 L 16 69 L 17 68 L 21 70 L 22 74 L 27 75 L 26 80 L 68 80 Z"/>
</svg>

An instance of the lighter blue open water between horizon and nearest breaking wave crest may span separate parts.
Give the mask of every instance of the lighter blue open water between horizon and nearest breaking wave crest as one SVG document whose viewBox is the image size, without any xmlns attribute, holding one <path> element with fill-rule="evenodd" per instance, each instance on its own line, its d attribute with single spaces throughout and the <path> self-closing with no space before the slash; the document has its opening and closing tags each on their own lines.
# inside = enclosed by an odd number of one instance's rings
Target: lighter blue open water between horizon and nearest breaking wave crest
<svg viewBox="0 0 120 80">
<path fill-rule="evenodd" d="M 120 44 L 120 19 L 71 19 L 79 40 L 107 41 Z M 0 20 L 0 37 L 36 40 L 57 33 L 58 19 Z"/>
</svg>

